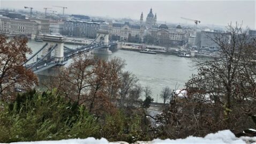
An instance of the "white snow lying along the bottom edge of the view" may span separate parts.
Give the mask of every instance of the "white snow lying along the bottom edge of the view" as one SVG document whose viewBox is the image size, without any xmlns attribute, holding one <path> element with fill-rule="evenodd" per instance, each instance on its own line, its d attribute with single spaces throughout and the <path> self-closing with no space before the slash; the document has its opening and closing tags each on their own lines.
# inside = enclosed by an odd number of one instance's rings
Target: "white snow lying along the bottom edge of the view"
<svg viewBox="0 0 256 144">
<path fill-rule="evenodd" d="M 58 140 L 58 141 L 35 141 L 35 142 L 12 142 L 13 144 L 91 144 L 91 143 L 109 143 L 109 144 L 125 144 L 126 142 L 108 142 L 108 140 L 102 138 L 102 139 L 95 139 L 95 138 L 87 138 L 87 139 L 69 139 L 69 140 Z M 200 137 L 187 137 L 185 139 L 176 139 L 176 140 L 160 140 L 160 139 L 154 139 L 153 141 L 138 141 L 135 142 L 136 144 L 153 144 L 153 143 L 218 143 L 218 144 L 227 144 L 227 143 L 236 143 L 236 144 L 248 144 L 253 143 L 256 144 L 256 137 L 250 138 L 250 137 L 240 137 L 236 138 L 235 135 L 229 131 L 219 131 L 217 133 L 210 133 L 207 134 L 204 138 Z"/>
</svg>

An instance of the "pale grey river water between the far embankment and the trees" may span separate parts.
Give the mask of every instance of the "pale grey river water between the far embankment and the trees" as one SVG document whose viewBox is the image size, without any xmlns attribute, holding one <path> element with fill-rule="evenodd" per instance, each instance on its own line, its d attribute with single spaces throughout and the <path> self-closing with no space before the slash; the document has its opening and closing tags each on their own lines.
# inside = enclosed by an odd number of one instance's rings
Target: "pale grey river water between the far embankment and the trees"
<svg viewBox="0 0 256 144">
<path fill-rule="evenodd" d="M 28 42 L 28 46 L 32 48 L 33 52 L 39 50 L 43 44 L 35 41 Z M 65 45 L 70 48 L 78 47 L 77 45 Z M 163 87 L 169 86 L 172 90 L 175 87 L 176 89 L 183 89 L 190 76 L 197 73 L 197 70 L 192 67 L 195 58 L 124 50 L 118 50 L 112 55 L 97 55 L 97 57 L 103 59 L 118 57 L 125 60 L 124 70 L 137 76 L 142 86 L 149 86 L 152 89 L 155 102 L 162 102 L 159 95 Z"/>
</svg>

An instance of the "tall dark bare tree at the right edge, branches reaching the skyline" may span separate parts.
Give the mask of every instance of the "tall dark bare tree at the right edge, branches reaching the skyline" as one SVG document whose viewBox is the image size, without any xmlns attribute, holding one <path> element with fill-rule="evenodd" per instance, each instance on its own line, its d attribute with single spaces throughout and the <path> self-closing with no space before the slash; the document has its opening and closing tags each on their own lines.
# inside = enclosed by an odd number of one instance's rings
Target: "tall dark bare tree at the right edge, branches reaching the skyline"
<svg viewBox="0 0 256 144">
<path fill-rule="evenodd" d="M 187 95 L 194 103 L 190 103 L 192 117 L 211 121 L 198 122 L 198 132 L 223 128 L 242 131 L 252 126 L 248 116 L 256 114 L 252 104 L 256 102 L 255 41 L 240 25 L 230 25 L 228 31 L 213 39 L 220 47 L 220 57 L 199 63 L 198 74 L 186 83 Z"/>
</svg>

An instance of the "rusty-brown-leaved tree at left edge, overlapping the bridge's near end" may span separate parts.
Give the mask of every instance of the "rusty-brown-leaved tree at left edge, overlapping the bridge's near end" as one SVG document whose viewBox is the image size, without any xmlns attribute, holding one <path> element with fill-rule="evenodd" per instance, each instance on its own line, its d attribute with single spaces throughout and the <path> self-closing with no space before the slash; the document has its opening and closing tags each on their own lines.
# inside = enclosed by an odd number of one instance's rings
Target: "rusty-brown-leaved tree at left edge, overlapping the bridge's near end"
<svg viewBox="0 0 256 144">
<path fill-rule="evenodd" d="M 12 95 L 15 87 L 30 89 L 37 84 L 37 76 L 26 69 L 26 54 L 32 50 L 27 46 L 27 39 L 0 35 L 0 97 Z"/>
</svg>

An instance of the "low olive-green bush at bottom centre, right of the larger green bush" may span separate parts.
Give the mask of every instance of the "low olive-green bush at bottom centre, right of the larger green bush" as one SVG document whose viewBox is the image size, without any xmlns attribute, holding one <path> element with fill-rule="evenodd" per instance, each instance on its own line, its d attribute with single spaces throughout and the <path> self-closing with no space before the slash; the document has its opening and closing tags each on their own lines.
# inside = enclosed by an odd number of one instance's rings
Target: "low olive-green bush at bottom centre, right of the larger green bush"
<svg viewBox="0 0 256 144">
<path fill-rule="evenodd" d="M 107 116 L 102 123 L 101 136 L 109 141 L 149 140 L 147 131 L 141 129 L 141 121 L 141 115 L 118 110 L 115 115 Z"/>
</svg>

